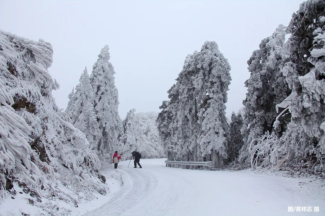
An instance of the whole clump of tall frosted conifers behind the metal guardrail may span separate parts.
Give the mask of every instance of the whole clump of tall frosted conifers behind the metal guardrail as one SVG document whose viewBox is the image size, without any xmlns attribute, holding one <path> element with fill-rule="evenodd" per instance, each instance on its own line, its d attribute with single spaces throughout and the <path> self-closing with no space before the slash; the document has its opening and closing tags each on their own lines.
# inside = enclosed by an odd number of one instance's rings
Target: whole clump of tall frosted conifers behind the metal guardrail
<svg viewBox="0 0 325 216">
<path fill-rule="evenodd" d="M 168 159 L 212 160 L 222 165 L 229 125 L 225 116 L 230 66 L 217 44 L 206 41 L 185 59 L 176 84 L 158 115 Z"/>
</svg>

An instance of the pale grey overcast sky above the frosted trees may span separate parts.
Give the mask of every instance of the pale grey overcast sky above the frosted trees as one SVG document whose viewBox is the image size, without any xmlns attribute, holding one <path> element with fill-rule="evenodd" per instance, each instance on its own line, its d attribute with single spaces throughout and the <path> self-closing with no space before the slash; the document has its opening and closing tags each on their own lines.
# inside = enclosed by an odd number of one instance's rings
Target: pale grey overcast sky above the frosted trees
<svg viewBox="0 0 325 216">
<path fill-rule="evenodd" d="M 66 108 L 68 94 L 110 46 L 122 119 L 131 108 L 156 111 L 175 83 L 185 57 L 214 40 L 231 65 L 227 116 L 242 107 L 247 60 L 279 24 L 288 25 L 301 0 L 289 1 L 14 1 L 1 0 L 0 29 L 49 41 L 48 69 L 59 84 L 53 96 Z"/>
</svg>

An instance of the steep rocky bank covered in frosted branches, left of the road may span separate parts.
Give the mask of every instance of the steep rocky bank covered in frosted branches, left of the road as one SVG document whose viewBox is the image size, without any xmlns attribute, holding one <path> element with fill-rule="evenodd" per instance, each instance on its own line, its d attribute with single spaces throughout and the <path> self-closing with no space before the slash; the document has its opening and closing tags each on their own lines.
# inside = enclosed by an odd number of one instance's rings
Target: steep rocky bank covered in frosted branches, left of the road
<svg viewBox="0 0 325 216">
<path fill-rule="evenodd" d="M 52 54 L 44 40 L 0 31 L 0 194 L 15 196 L 20 187 L 36 206 L 44 204 L 42 197 L 77 206 L 105 194 L 106 186 L 97 178 L 96 153 L 52 97 L 59 87 L 47 71 Z M 54 203 L 42 208 L 53 209 Z M 65 211 L 60 208 L 58 215 Z"/>
</svg>

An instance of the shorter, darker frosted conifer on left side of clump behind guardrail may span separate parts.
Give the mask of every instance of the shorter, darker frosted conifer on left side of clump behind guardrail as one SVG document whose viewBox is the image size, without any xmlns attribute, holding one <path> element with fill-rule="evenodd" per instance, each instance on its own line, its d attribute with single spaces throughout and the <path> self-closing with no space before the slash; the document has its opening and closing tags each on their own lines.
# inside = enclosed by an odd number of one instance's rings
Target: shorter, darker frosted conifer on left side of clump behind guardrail
<svg viewBox="0 0 325 216">
<path fill-rule="evenodd" d="M 160 107 L 162 112 L 157 118 L 158 130 L 169 160 L 197 161 L 202 158 L 200 146 L 197 145 L 201 127 L 197 122 L 193 84 L 196 72 L 193 72 L 191 64 L 193 57 L 186 57 L 176 84 L 167 92 L 170 100 L 163 102 Z"/>
</svg>

